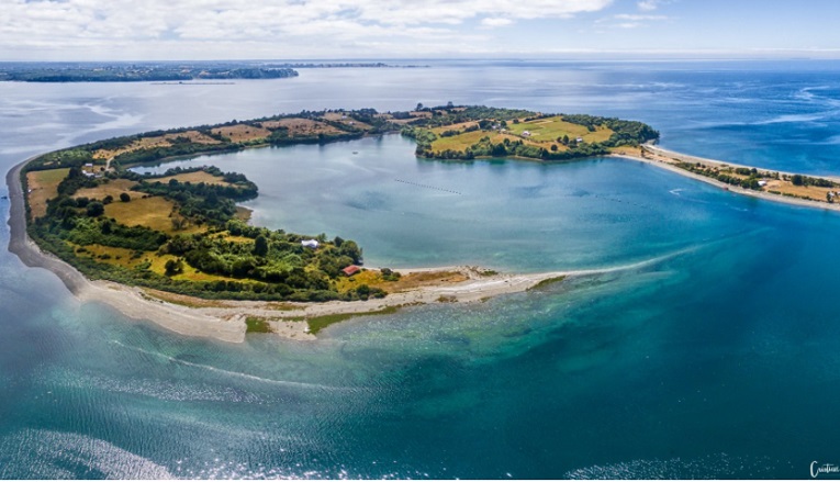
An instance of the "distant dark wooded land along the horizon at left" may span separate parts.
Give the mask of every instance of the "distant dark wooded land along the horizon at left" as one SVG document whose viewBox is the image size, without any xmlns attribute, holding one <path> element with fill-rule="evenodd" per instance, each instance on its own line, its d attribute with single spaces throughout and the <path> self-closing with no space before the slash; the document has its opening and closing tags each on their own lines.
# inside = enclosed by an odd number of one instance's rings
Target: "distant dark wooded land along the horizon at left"
<svg viewBox="0 0 840 482">
<path fill-rule="evenodd" d="M 0 64 L 0 81 L 183 82 L 194 80 L 283 79 L 296 77 L 298 71 L 295 69 L 389 67 L 391 66 L 383 63 L 5 63 Z"/>
</svg>

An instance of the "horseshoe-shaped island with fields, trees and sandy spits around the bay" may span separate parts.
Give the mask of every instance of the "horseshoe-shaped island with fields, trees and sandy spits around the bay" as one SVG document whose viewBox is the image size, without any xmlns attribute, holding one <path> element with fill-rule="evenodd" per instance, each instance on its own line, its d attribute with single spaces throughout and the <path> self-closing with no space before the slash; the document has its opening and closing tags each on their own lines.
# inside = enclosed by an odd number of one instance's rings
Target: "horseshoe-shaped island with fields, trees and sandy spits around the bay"
<svg viewBox="0 0 840 482">
<path fill-rule="evenodd" d="M 418 303 L 480 301 L 595 272 L 368 268 L 362 247 L 351 239 L 253 226 L 237 203 L 259 190 L 240 173 L 213 166 L 159 175 L 131 169 L 197 155 L 384 134 L 413 138 L 417 156 L 441 161 L 514 157 L 560 162 L 611 155 L 806 204 L 833 208 L 838 194 L 830 179 L 665 152 L 653 145 L 659 133 L 637 121 L 451 103 L 384 113 L 303 111 L 116 137 L 27 159 L 7 178 L 10 250 L 30 266 L 58 273 L 82 300 L 103 301 L 179 333 L 228 341 L 240 341 L 247 332 L 311 339 L 351 316 Z"/>
</svg>

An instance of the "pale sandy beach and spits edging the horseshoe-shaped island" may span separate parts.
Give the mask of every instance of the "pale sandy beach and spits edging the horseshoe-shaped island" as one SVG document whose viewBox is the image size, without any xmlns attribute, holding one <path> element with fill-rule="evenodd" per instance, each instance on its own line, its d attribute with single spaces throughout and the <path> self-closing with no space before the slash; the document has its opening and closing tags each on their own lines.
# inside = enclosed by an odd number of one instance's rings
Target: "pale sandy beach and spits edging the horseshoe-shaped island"
<svg viewBox="0 0 840 482">
<path fill-rule="evenodd" d="M 638 160 L 684 177 L 716 186 L 736 194 L 744 194 L 806 208 L 840 211 L 839 204 L 788 198 L 726 184 L 717 179 L 681 169 L 673 164 L 673 160 L 679 159 L 690 162 L 703 162 L 719 167 L 749 166 L 687 156 L 681 153 L 653 147 L 651 145 L 645 145 L 642 146 L 642 149 L 651 157 L 641 157 L 632 153 L 615 153 L 606 157 Z M 55 273 L 74 296 L 82 303 L 103 303 L 132 320 L 148 321 L 181 335 L 212 338 L 226 343 L 245 341 L 246 320 L 249 317 L 256 317 L 268 323 L 272 333 L 280 337 L 295 340 L 314 340 L 316 337 L 310 333 L 309 324 L 306 322 L 310 318 L 334 315 L 373 315 L 378 312 L 412 305 L 481 302 L 503 294 L 528 291 L 540 283 L 550 282 L 552 280 L 561 281 L 562 279 L 570 277 L 634 269 L 673 256 L 668 255 L 665 257 L 623 267 L 526 274 L 496 272 L 488 274 L 482 268 L 468 266 L 394 269 L 394 271 L 399 271 L 403 274 L 412 272 L 457 271 L 466 278 L 466 281 L 413 288 L 407 291 L 389 293 L 383 299 L 352 302 L 332 301 L 326 303 L 292 303 L 204 300 L 167 292 L 156 293 L 155 290 L 141 287 L 131 287 L 112 281 L 89 280 L 64 260 L 49 253 L 42 251 L 29 237 L 26 232 L 25 200 L 20 175 L 26 164 L 37 157 L 40 156 L 33 156 L 19 162 L 9 170 L 5 177 L 10 200 L 10 216 L 8 222 L 10 226 L 10 253 L 16 255 L 27 267 L 44 268 Z M 781 171 L 780 173 L 792 175 L 789 172 Z M 835 182 L 840 182 L 840 178 L 838 177 L 826 178 Z"/>
</svg>

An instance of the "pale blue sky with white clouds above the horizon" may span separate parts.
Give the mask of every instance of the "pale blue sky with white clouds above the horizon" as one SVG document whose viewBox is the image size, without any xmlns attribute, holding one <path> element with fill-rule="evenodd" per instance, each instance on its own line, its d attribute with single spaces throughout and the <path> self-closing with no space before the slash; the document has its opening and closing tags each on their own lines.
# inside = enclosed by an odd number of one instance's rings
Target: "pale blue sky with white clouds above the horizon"
<svg viewBox="0 0 840 482">
<path fill-rule="evenodd" d="M 0 60 L 840 58 L 836 0 L 0 0 Z"/>
</svg>

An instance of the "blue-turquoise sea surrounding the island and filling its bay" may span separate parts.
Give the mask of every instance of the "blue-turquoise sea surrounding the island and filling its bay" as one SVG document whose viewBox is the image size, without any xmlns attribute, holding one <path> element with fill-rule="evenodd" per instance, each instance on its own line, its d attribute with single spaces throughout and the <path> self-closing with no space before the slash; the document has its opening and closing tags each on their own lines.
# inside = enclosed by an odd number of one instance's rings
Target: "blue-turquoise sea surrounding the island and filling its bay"
<svg viewBox="0 0 840 482">
<path fill-rule="evenodd" d="M 148 130 L 452 101 L 640 120 L 674 150 L 840 173 L 837 61 L 428 65 L 2 82 L 0 167 Z M 0 478 L 803 479 L 840 464 L 838 213 L 632 160 L 413 153 L 389 135 L 180 164 L 246 173 L 254 223 L 356 239 L 371 266 L 604 272 L 314 343 L 231 345 L 81 304 L 3 250 Z"/>
</svg>

